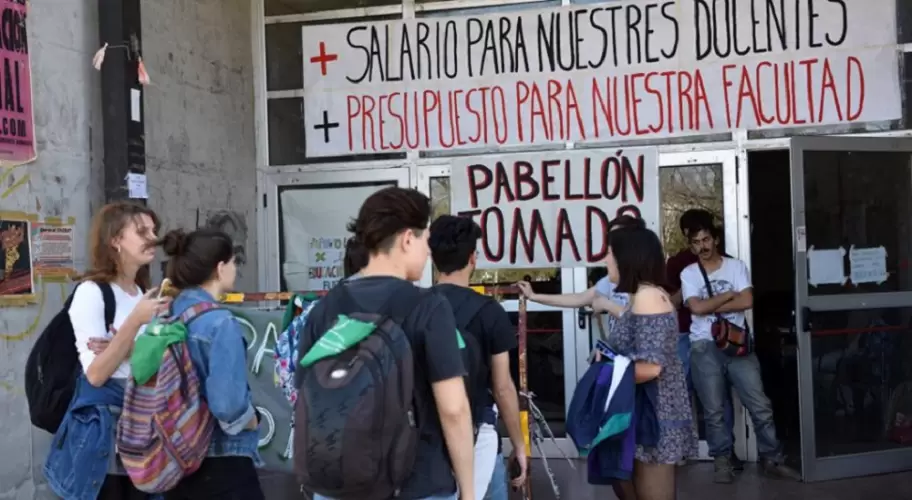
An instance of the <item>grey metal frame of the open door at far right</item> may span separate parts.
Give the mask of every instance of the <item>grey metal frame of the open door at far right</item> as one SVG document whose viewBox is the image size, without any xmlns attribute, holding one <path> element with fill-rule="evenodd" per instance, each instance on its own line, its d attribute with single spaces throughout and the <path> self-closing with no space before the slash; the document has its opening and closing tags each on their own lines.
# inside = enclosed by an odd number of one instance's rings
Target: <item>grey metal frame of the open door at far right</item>
<svg viewBox="0 0 912 500">
<path fill-rule="evenodd" d="M 795 330 L 798 332 L 798 395 L 804 479 L 826 481 L 912 469 L 912 448 L 817 457 L 813 353 L 810 332 L 804 328 L 805 308 L 809 311 L 841 311 L 908 307 L 912 304 L 912 292 L 826 296 L 813 296 L 808 293 L 804 152 L 902 152 L 912 155 L 912 138 L 795 137 L 789 141 L 789 150 L 792 177 L 792 247 L 795 256 Z"/>
</svg>

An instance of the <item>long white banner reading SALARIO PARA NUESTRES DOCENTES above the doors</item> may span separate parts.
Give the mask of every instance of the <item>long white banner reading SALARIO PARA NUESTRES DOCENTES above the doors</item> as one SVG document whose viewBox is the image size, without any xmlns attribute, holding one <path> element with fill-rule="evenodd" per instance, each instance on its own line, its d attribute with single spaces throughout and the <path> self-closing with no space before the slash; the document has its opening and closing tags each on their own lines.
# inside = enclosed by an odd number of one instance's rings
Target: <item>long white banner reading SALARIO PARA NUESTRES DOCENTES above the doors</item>
<svg viewBox="0 0 912 500">
<path fill-rule="evenodd" d="M 900 118 L 894 0 L 628 0 L 302 28 L 308 156 Z"/>
</svg>

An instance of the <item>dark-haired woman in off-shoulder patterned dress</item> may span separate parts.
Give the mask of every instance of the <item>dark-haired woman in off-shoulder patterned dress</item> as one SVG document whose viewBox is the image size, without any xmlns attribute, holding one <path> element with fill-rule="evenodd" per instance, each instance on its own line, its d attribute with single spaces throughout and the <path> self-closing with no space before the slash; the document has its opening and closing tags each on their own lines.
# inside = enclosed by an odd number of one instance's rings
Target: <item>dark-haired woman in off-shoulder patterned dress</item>
<svg viewBox="0 0 912 500">
<path fill-rule="evenodd" d="M 611 343 L 635 362 L 636 383 L 654 382 L 657 389 L 655 446 L 637 446 L 633 481 L 615 484 L 615 493 L 621 500 L 674 500 L 675 465 L 696 454 L 697 436 L 677 355 L 677 314 L 662 288 L 665 258 L 659 237 L 645 227 L 611 231 L 606 264 L 617 291 L 630 296 Z"/>
</svg>

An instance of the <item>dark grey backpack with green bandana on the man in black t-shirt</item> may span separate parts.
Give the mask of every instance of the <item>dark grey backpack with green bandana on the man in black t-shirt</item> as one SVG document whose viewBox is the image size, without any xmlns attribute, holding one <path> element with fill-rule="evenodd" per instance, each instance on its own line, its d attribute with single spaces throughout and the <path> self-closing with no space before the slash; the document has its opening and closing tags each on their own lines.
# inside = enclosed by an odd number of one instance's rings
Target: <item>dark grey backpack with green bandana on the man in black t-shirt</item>
<svg viewBox="0 0 912 500">
<path fill-rule="evenodd" d="M 324 297 L 336 318 L 296 367 L 294 471 L 304 489 L 337 500 L 386 500 L 411 476 L 423 408 L 402 329 L 426 290 L 391 294 L 386 314 L 360 312 L 341 283 Z M 333 305 L 330 305 L 333 304 Z M 331 314 L 330 314 L 331 313 Z"/>
</svg>

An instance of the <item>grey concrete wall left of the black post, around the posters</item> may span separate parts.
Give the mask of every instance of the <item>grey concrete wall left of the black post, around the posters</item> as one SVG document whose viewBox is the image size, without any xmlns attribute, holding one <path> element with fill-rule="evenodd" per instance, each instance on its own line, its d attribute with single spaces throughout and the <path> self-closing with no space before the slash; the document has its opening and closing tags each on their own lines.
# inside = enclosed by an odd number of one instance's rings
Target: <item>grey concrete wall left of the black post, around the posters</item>
<svg viewBox="0 0 912 500">
<path fill-rule="evenodd" d="M 0 211 L 74 219 L 79 267 L 85 266 L 94 202 L 103 198 L 100 76 L 91 65 L 97 18 L 90 0 L 31 2 L 38 160 L 7 172 L 0 183 Z M 63 305 L 69 287 L 39 282 L 36 288 L 38 304 L 0 307 L 0 499 L 52 498 L 41 473 L 50 436 L 29 423 L 22 373 L 35 336 Z"/>
</svg>

